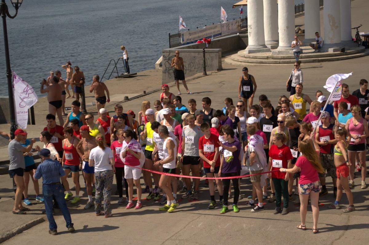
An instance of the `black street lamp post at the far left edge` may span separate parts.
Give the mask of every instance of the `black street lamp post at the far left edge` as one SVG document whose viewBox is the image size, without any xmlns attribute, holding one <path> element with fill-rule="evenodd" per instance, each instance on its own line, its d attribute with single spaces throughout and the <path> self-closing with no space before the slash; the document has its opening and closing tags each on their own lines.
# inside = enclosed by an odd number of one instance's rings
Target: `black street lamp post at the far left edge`
<svg viewBox="0 0 369 245">
<path fill-rule="evenodd" d="M 8 80 L 8 95 L 9 95 L 9 109 L 10 109 L 10 138 L 14 139 L 14 131 L 17 129 L 15 124 L 15 111 L 14 111 L 14 96 L 13 96 L 13 83 L 11 82 L 11 69 L 9 58 L 9 45 L 8 45 L 8 32 L 6 28 L 6 17 L 14 19 L 18 14 L 18 8 L 21 6 L 23 0 L 11 0 L 15 8 L 15 14 L 12 16 L 8 12 L 8 6 L 5 0 L 1 0 L 0 13 L 3 18 L 3 30 L 4 30 L 4 46 L 5 46 L 5 60 L 6 60 L 6 77 Z"/>
</svg>

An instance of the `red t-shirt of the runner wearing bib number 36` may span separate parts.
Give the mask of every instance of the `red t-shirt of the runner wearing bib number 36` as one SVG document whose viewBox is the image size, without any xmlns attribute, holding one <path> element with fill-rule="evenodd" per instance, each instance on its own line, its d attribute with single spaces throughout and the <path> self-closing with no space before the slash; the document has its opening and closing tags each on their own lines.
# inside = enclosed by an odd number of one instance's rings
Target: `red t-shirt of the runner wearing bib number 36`
<svg viewBox="0 0 369 245">
<path fill-rule="evenodd" d="M 290 148 L 287 145 L 282 145 L 281 147 L 278 147 L 276 145 L 270 146 L 269 149 L 269 156 L 273 160 L 282 161 L 281 167 L 272 167 L 273 170 L 279 170 L 280 168 L 287 168 L 287 161 L 293 159 L 292 153 Z M 277 164 L 277 162 L 276 162 Z M 273 166 L 273 164 L 272 164 Z M 276 179 L 284 179 L 284 176 L 286 176 L 286 173 L 283 172 L 272 172 L 272 178 Z"/>
</svg>

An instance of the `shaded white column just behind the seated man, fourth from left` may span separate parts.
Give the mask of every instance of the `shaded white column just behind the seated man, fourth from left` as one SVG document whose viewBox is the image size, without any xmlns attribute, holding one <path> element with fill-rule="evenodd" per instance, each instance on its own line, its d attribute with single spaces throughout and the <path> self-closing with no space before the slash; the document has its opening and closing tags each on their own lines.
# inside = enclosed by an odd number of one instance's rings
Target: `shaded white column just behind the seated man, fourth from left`
<svg viewBox="0 0 369 245">
<path fill-rule="evenodd" d="M 307 46 L 310 42 L 315 42 L 315 32 L 320 34 L 320 7 L 319 0 L 305 1 L 305 39 Z"/>
</svg>

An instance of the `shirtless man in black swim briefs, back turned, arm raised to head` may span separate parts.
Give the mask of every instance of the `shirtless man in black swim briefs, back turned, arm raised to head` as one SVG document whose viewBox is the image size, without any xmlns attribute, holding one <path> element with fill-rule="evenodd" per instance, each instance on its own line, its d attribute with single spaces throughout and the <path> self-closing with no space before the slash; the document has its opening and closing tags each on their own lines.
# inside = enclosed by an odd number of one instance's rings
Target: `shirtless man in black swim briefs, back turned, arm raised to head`
<svg viewBox="0 0 369 245">
<path fill-rule="evenodd" d="M 42 94 L 47 93 L 47 100 L 49 102 L 49 113 L 53 115 L 58 115 L 59 125 L 63 125 L 64 120 L 62 115 L 62 88 L 58 83 L 59 78 L 57 76 L 53 76 L 51 79 L 51 85 L 44 88 L 46 80 L 43 79 L 41 82 L 40 92 Z"/>
</svg>

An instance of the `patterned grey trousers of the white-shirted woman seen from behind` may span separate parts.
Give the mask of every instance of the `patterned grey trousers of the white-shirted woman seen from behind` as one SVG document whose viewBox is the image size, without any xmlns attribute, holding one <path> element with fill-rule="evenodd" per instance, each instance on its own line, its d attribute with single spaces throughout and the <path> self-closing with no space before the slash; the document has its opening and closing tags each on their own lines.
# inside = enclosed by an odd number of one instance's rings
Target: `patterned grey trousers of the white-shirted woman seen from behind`
<svg viewBox="0 0 369 245">
<path fill-rule="evenodd" d="M 95 212 L 100 213 L 101 199 L 104 197 L 104 214 L 110 214 L 111 186 L 113 185 L 113 170 L 95 172 Z"/>
</svg>

